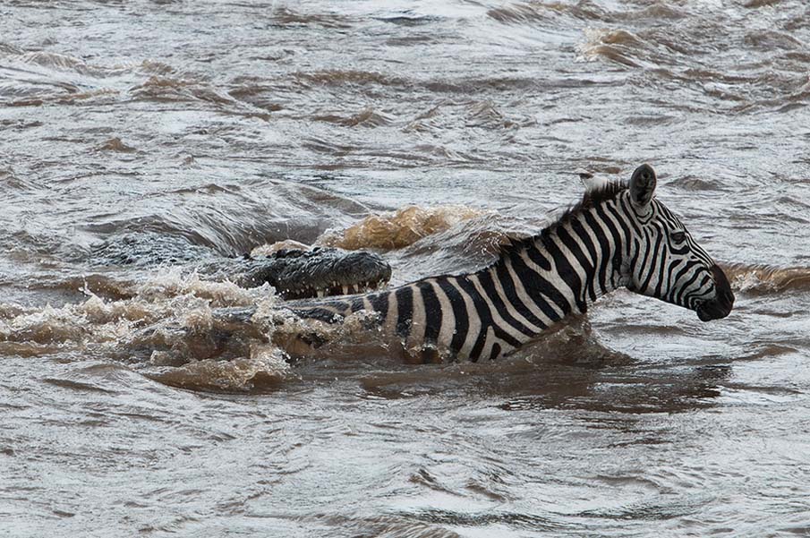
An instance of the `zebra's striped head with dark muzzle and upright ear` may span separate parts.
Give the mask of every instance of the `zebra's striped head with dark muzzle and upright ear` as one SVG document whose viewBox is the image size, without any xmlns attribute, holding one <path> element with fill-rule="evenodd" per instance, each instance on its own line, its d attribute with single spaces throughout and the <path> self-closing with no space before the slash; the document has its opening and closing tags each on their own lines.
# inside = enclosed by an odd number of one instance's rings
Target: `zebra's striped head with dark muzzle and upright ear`
<svg viewBox="0 0 810 538">
<path fill-rule="evenodd" d="M 604 183 L 581 174 L 586 188 Z M 657 184 L 649 165 L 635 169 L 617 205 L 627 218 L 627 250 L 619 272 L 627 289 L 697 312 L 702 321 L 731 312 L 734 294 L 729 279 L 686 230 L 677 215 L 653 198 Z"/>
</svg>

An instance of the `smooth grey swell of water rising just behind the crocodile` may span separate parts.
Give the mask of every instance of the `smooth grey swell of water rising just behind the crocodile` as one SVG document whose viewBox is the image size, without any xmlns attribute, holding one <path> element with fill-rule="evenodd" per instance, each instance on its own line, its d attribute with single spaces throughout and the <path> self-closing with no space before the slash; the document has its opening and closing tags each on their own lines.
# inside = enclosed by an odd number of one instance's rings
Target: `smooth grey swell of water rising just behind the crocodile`
<svg viewBox="0 0 810 538">
<path fill-rule="evenodd" d="M 129 144 L 107 141 L 98 149 L 126 151 Z M 133 148 L 134 149 L 134 148 Z M 138 149 L 140 150 L 140 149 Z M 212 201 L 216 199 L 216 203 Z M 243 255 L 263 243 L 296 239 L 312 243 L 328 226 L 348 226 L 357 215 L 368 209 L 362 204 L 331 192 L 308 185 L 277 179 L 262 179 L 254 183 L 220 182 L 194 184 L 191 188 L 176 186 L 149 198 L 148 203 L 111 207 L 100 216 L 92 216 L 81 226 L 97 242 L 107 243 L 106 252 L 121 258 L 124 255 L 157 260 L 167 255 L 161 252 L 188 243 L 190 256 L 209 258 L 200 247 L 219 256 Z M 27 242 L 26 242 L 27 243 Z M 172 249 L 161 244 L 173 243 Z M 85 249 L 84 258 L 98 265 L 98 252 Z"/>
</svg>

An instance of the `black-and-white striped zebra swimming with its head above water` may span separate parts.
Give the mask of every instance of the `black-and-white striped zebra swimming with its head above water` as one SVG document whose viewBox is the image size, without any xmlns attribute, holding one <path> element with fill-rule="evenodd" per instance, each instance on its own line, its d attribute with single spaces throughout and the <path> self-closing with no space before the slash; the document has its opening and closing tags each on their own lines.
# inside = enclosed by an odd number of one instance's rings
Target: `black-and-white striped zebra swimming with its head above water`
<svg viewBox="0 0 810 538">
<path fill-rule="evenodd" d="M 583 181 L 581 201 L 539 234 L 508 243 L 483 269 L 286 308 L 328 324 L 371 312 L 372 325 L 418 362 L 498 358 L 620 287 L 693 310 L 703 321 L 729 315 L 728 278 L 654 198 L 651 166 L 637 167 L 627 183 Z M 320 343 L 297 337 L 305 346 Z"/>
</svg>

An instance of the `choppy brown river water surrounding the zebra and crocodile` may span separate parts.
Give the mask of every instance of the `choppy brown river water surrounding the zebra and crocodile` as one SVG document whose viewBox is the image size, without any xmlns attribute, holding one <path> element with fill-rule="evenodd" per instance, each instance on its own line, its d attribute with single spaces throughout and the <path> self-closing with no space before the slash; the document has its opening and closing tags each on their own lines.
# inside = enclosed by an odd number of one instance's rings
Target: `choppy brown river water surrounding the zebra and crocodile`
<svg viewBox="0 0 810 538">
<path fill-rule="evenodd" d="M 810 535 L 808 5 L 5 0 L 0 535 Z M 176 329 L 270 290 L 90 254 L 368 244 L 398 283 L 643 161 L 726 320 L 617 293 L 500 363 L 225 361 Z"/>
</svg>

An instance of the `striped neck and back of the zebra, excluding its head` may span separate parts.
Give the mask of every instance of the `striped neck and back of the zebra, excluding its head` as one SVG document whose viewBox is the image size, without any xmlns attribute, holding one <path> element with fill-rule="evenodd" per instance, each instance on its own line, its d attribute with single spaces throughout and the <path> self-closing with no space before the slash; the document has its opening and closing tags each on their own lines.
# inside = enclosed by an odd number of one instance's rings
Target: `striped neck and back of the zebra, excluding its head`
<svg viewBox="0 0 810 538">
<path fill-rule="evenodd" d="M 414 354 L 430 346 L 451 359 L 494 359 L 622 284 L 616 260 L 632 244 L 625 206 L 619 198 L 571 213 L 470 275 L 425 278 L 293 310 L 328 321 L 378 312 L 384 333 L 401 338 Z"/>
</svg>

